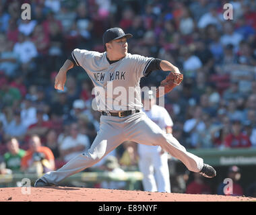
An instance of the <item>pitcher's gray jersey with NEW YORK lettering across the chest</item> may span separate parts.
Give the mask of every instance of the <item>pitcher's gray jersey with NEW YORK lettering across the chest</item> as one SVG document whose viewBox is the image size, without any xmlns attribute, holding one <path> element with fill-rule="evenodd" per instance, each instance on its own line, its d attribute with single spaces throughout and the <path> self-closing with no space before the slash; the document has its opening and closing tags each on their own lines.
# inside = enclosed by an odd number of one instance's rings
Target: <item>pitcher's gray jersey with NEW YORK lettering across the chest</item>
<svg viewBox="0 0 256 215">
<path fill-rule="evenodd" d="M 98 103 L 104 103 L 104 107 L 97 105 L 98 111 L 141 109 L 143 105 L 139 81 L 154 58 L 128 53 L 121 60 L 110 64 L 106 59 L 106 52 L 100 53 L 78 48 L 73 50 L 71 56 L 75 63 L 88 73 L 94 89 L 102 87 L 105 90 L 105 93 L 95 93 Z M 112 87 L 113 93 L 110 93 L 109 87 Z M 129 97 L 129 91 L 132 89 L 134 96 Z"/>
</svg>

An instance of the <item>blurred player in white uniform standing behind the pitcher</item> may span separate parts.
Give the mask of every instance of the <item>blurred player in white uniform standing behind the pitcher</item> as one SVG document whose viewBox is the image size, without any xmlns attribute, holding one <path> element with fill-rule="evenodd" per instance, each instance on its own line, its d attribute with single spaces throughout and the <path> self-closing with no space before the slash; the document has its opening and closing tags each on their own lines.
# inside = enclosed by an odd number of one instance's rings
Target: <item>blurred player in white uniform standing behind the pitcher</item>
<svg viewBox="0 0 256 215">
<path fill-rule="evenodd" d="M 145 114 L 167 134 L 172 133 L 172 118 L 167 110 L 156 105 L 153 91 L 148 91 L 149 110 Z M 144 101 L 145 103 L 145 101 Z M 143 143 L 143 142 L 141 142 Z M 144 191 L 170 193 L 170 173 L 168 168 L 168 153 L 160 146 L 138 144 L 139 170 L 143 173 Z"/>
</svg>

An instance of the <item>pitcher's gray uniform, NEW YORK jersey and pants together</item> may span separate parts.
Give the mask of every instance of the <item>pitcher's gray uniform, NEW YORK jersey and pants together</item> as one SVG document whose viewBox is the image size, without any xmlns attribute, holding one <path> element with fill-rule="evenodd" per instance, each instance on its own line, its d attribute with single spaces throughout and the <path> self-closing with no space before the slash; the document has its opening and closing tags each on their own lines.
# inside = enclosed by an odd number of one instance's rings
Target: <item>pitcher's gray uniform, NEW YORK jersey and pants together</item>
<svg viewBox="0 0 256 215">
<path fill-rule="evenodd" d="M 143 105 L 139 81 L 154 58 L 127 54 L 121 60 L 110 64 L 106 58 L 106 52 L 79 49 L 73 50 L 72 56 L 75 63 L 88 73 L 95 88 L 98 87 L 98 91 L 105 89 L 104 93 L 96 93 L 98 111 L 141 110 Z M 112 94 L 108 93 L 111 87 Z M 134 95 L 132 97 L 128 95 L 129 88 L 135 89 L 134 94 L 131 93 Z M 57 185 L 66 177 L 92 167 L 126 140 L 159 145 L 170 155 L 181 160 L 190 171 L 199 172 L 203 167 L 203 159 L 187 152 L 172 134 L 165 134 L 145 113 L 140 111 L 125 117 L 102 115 L 100 130 L 90 149 L 71 159 L 61 169 L 44 174 L 41 179 Z"/>
</svg>

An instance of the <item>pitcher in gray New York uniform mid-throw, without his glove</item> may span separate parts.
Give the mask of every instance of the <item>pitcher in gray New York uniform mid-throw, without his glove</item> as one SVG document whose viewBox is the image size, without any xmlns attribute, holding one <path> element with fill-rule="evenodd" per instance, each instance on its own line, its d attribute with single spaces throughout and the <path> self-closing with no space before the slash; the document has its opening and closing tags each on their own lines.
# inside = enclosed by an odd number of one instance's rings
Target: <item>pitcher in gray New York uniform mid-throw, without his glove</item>
<svg viewBox="0 0 256 215">
<path fill-rule="evenodd" d="M 67 71 L 74 66 L 82 67 L 88 73 L 94 84 L 98 111 L 102 114 L 100 130 L 88 150 L 57 171 L 45 173 L 36 180 L 35 187 L 58 185 L 66 177 L 92 167 L 126 140 L 159 145 L 181 160 L 190 171 L 205 177 L 216 175 L 213 167 L 187 152 L 172 134 L 166 134 L 141 111 L 141 77 L 148 77 L 152 71 L 159 69 L 174 74 L 180 71 L 166 60 L 128 53 L 127 38 L 131 37 L 121 28 L 110 28 L 103 34 L 106 52 L 75 48 L 59 70 L 55 77 L 55 89 L 59 90 L 64 89 Z M 129 91 L 132 91 L 133 96 L 129 96 Z"/>
</svg>

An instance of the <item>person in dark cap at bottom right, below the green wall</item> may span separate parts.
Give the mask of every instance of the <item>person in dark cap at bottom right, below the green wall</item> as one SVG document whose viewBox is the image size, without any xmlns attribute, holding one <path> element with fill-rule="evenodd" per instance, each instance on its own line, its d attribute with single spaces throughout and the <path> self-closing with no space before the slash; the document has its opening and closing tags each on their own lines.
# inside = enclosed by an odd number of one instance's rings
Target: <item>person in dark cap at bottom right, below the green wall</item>
<svg viewBox="0 0 256 215">
<path fill-rule="evenodd" d="M 232 184 L 230 184 L 230 187 L 225 187 L 227 185 L 226 183 L 220 183 L 220 185 L 218 185 L 217 194 L 225 196 L 242 196 L 243 187 L 238 183 L 241 179 L 240 168 L 237 166 L 229 167 L 227 177 L 232 179 Z"/>
</svg>

